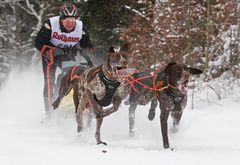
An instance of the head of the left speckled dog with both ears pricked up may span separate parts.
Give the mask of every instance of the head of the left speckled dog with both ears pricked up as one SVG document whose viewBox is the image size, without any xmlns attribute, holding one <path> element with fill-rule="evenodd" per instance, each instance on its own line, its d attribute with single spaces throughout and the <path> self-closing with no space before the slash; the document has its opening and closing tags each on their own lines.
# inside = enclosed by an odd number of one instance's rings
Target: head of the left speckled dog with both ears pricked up
<svg viewBox="0 0 240 165">
<path fill-rule="evenodd" d="M 119 76 L 121 70 L 124 70 L 128 66 L 128 45 L 124 45 L 116 52 L 113 47 L 109 48 L 107 56 L 107 67 L 111 70 L 115 76 Z"/>
</svg>

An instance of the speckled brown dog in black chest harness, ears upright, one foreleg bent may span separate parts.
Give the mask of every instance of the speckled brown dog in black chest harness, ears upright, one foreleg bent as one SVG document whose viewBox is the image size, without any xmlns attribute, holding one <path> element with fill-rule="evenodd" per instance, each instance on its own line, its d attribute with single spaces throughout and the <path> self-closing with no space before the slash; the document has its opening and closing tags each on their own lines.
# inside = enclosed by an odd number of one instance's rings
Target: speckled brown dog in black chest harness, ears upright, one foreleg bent
<svg viewBox="0 0 240 165">
<path fill-rule="evenodd" d="M 124 45 L 119 52 L 115 52 L 111 47 L 105 64 L 87 69 L 80 76 L 78 83 L 80 97 L 76 113 L 77 131 L 80 132 L 83 129 L 84 105 L 88 103 L 90 110 L 96 116 L 97 144 L 106 144 L 101 140 L 100 135 L 103 118 L 116 112 L 124 98 L 125 85 L 118 73 L 127 67 L 127 57 L 128 45 Z"/>
</svg>

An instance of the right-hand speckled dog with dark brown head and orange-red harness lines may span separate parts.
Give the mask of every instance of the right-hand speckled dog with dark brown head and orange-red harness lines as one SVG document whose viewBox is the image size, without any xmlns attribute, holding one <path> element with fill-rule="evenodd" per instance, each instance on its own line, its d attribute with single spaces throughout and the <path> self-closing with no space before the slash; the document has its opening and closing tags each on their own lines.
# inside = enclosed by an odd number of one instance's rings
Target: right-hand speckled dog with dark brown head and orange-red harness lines
<svg viewBox="0 0 240 165">
<path fill-rule="evenodd" d="M 168 116 L 171 112 L 173 126 L 177 127 L 187 103 L 187 85 L 190 74 L 201 74 L 202 70 L 170 62 L 157 73 L 135 73 L 128 78 L 131 86 L 129 98 L 129 135 L 134 135 L 135 110 L 137 105 L 146 105 L 151 101 L 148 118 L 153 120 L 155 109 L 160 103 L 160 122 L 163 147 L 169 148 Z"/>
</svg>

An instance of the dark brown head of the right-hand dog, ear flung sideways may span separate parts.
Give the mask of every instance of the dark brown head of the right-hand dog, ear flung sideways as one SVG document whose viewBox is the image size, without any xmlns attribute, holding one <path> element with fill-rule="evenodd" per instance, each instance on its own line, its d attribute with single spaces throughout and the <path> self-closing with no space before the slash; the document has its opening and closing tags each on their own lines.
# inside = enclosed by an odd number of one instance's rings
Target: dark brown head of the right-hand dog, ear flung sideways
<svg viewBox="0 0 240 165">
<path fill-rule="evenodd" d="M 186 95 L 190 74 L 201 74 L 203 71 L 198 68 L 170 62 L 164 72 L 168 77 L 169 84 L 177 87 L 183 95 Z"/>
</svg>

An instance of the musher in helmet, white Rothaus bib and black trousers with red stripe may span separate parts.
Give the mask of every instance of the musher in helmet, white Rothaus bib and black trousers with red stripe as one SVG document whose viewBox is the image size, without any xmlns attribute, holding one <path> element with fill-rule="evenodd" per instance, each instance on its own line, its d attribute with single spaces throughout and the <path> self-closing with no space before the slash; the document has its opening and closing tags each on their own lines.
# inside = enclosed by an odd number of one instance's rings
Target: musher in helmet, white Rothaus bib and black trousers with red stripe
<svg viewBox="0 0 240 165">
<path fill-rule="evenodd" d="M 60 15 L 45 21 L 35 39 L 35 47 L 42 55 L 46 115 L 50 114 L 52 101 L 58 92 L 55 85 L 57 67 L 63 70 L 64 62 L 75 61 L 77 45 L 89 53 L 93 52 L 93 45 L 86 28 L 77 17 L 78 9 L 74 4 L 63 4 Z M 87 58 L 87 62 L 92 65 L 90 58 Z"/>
</svg>

